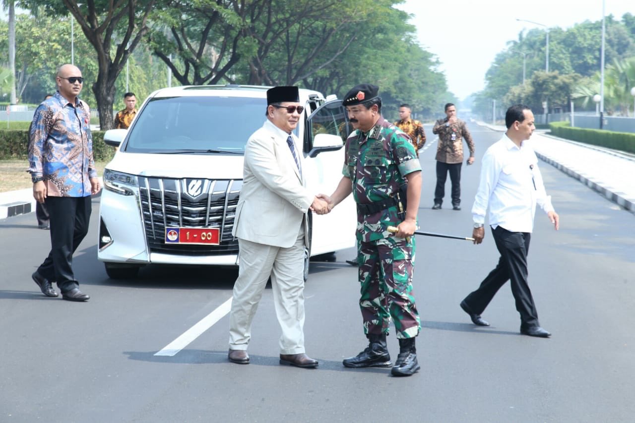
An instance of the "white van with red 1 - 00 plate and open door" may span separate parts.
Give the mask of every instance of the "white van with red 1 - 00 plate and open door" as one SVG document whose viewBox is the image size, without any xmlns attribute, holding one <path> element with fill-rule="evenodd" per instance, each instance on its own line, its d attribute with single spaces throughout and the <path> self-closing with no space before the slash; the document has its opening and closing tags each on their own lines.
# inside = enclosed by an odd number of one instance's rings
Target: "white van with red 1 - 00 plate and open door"
<svg viewBox="0 0 635 423">
<path fill-rule="evenodd" d="M 244 147 L 264 123 L 264 86 L 180 86 L 152 93 L 128 130 L 104 141 L 119 151 L 104 170 L 99 260 L 110 278 L 134 278 L 150 263 L 236 266 L 232 225 Z M 349 124 L 341 100 L 300 90 L 307 187 L 330 194 L 342 178 Z M 352 196 L 328 215 L 311 215 L 309 257 L 355 245 Z M 281 231 L 286 228 L 280 228 Z"/>
</svg>

